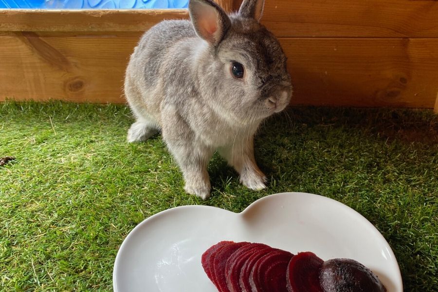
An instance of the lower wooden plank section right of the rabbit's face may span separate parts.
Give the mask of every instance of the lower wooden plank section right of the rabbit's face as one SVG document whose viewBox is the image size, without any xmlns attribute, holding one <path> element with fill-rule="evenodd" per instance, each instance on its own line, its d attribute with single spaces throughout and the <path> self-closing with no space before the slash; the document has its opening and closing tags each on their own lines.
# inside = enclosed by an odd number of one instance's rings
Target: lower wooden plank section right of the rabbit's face
<svg viewBox="0 0 438 292">
<path fill-rule="evenodd" d="M 282 38 L 293 104 L 433 108 L 437 38 Z"/>
</svg>

